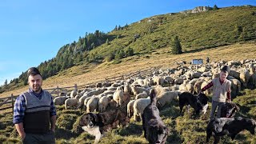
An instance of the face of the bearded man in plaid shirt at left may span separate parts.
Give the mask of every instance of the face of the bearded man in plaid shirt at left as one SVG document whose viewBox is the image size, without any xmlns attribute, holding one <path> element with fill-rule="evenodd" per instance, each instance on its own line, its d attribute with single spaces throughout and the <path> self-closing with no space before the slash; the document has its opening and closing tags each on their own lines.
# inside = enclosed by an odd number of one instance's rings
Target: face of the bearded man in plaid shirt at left
<svg viewBox="0 0 256 144">
<path fill-rule="evenodd" d="M 34 90 L 34 92 L 39 93 L 41 90 L 41 86 L 42 86 L 42 77 L 41 75 L 37 74 L 37 75 L 30 75 L 29 76 L 29 85 L 30 88 L 32 90 Z"/>
</svg>

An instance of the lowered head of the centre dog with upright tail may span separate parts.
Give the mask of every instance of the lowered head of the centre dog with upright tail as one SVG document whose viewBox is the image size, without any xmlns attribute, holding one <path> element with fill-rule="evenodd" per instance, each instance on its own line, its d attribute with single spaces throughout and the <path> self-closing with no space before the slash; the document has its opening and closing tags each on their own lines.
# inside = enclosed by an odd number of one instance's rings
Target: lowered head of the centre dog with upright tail
<svg viewBox="0 0 256 144">
<path fill-rule="evenodd" d="M 147 139 L 149 140 L 150 143 L 165 143 L 169 131 L 170 130 L 166 126 L 150 126 Z"/>
</svg>

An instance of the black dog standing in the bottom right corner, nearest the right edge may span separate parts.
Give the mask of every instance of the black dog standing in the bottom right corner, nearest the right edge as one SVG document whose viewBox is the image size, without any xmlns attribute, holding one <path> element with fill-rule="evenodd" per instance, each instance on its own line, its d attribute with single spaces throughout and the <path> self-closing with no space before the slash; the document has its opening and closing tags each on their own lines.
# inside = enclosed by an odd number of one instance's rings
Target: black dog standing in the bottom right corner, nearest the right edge
<svg viewBox="0 0 256 144">
<path fill-rule="evenodd" d="M 242 130 L 249 130 L 250 134 L 255 134 L 256 122 L 250 118 L 214 118 L 206 129 L 206 142 L 209 142 L 211 135 L 214 135 L 214 143 L 218 143 L 220 137 L 228 134 L 232 140 Z"/>
</svg>

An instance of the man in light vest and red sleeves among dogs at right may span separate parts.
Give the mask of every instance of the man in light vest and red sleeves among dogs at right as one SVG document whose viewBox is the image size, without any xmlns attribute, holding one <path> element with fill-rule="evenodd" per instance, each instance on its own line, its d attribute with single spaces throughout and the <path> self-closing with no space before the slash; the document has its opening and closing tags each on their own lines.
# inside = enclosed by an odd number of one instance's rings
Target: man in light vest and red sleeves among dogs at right
<svg viewBox="0 0 256 144">
<path fill-rule="evenodd" d="M 230 67 L 223 66 L 219 74 L 219 78 L 214 78 L 210 83 L 204 86 L 201 90 L 201 91 L 205 91 L 213 86 L 213 98 L 211 103 L 212 108 L 210 113 L 210 120 L 214 118 L 215 110 L 217 109 L 217 107 L 218 107 L 217 118 L 220 118 L 222 106 L 226 102 L 231 102 L 231 97 L 230 97 L 231 82 L 230 80 L 226 79 L 229 72 L 230 72 Z"/>
</svg>

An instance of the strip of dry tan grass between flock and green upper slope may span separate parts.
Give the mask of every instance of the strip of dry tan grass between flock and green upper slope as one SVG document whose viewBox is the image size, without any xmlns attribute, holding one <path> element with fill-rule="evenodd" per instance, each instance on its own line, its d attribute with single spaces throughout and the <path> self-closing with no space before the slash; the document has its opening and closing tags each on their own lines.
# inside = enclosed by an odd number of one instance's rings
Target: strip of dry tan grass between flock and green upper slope
<svg viewBox="0 0 256 144">
<path fill-rule="evenodd" d="M 162 66 L 162 68 L 176 66 L 174 62 L 190 62 L 193 58 L 210 58 L 210 62 L 219 62 L 221 60 L 242 60 L 256 58 L 256 42 L 237 43 L 229 46 L 219 46 L 216 48 L 198 50 L 194 53 L 170 54 L 169 48 L 153 50 L 150 54 L 138 54 L 133 57 L 123 58 L 121 63 L 103 62 L 101 64 L 84 64 L 74 66 L 64 70 L 54 77 L 43 81 L 43 88 L 56 88 L 56 86 L 78 86 L 104 81 L 106 77 L 115 77 L 117 75 L 129 74 L 131 71 L 144 70 L 150 66 Z M 8 97 L 10 94 L 20 94 L 27 90 L 28 86 L 19 87 L 0 94 L 0 98 Z"/>
</svg>

